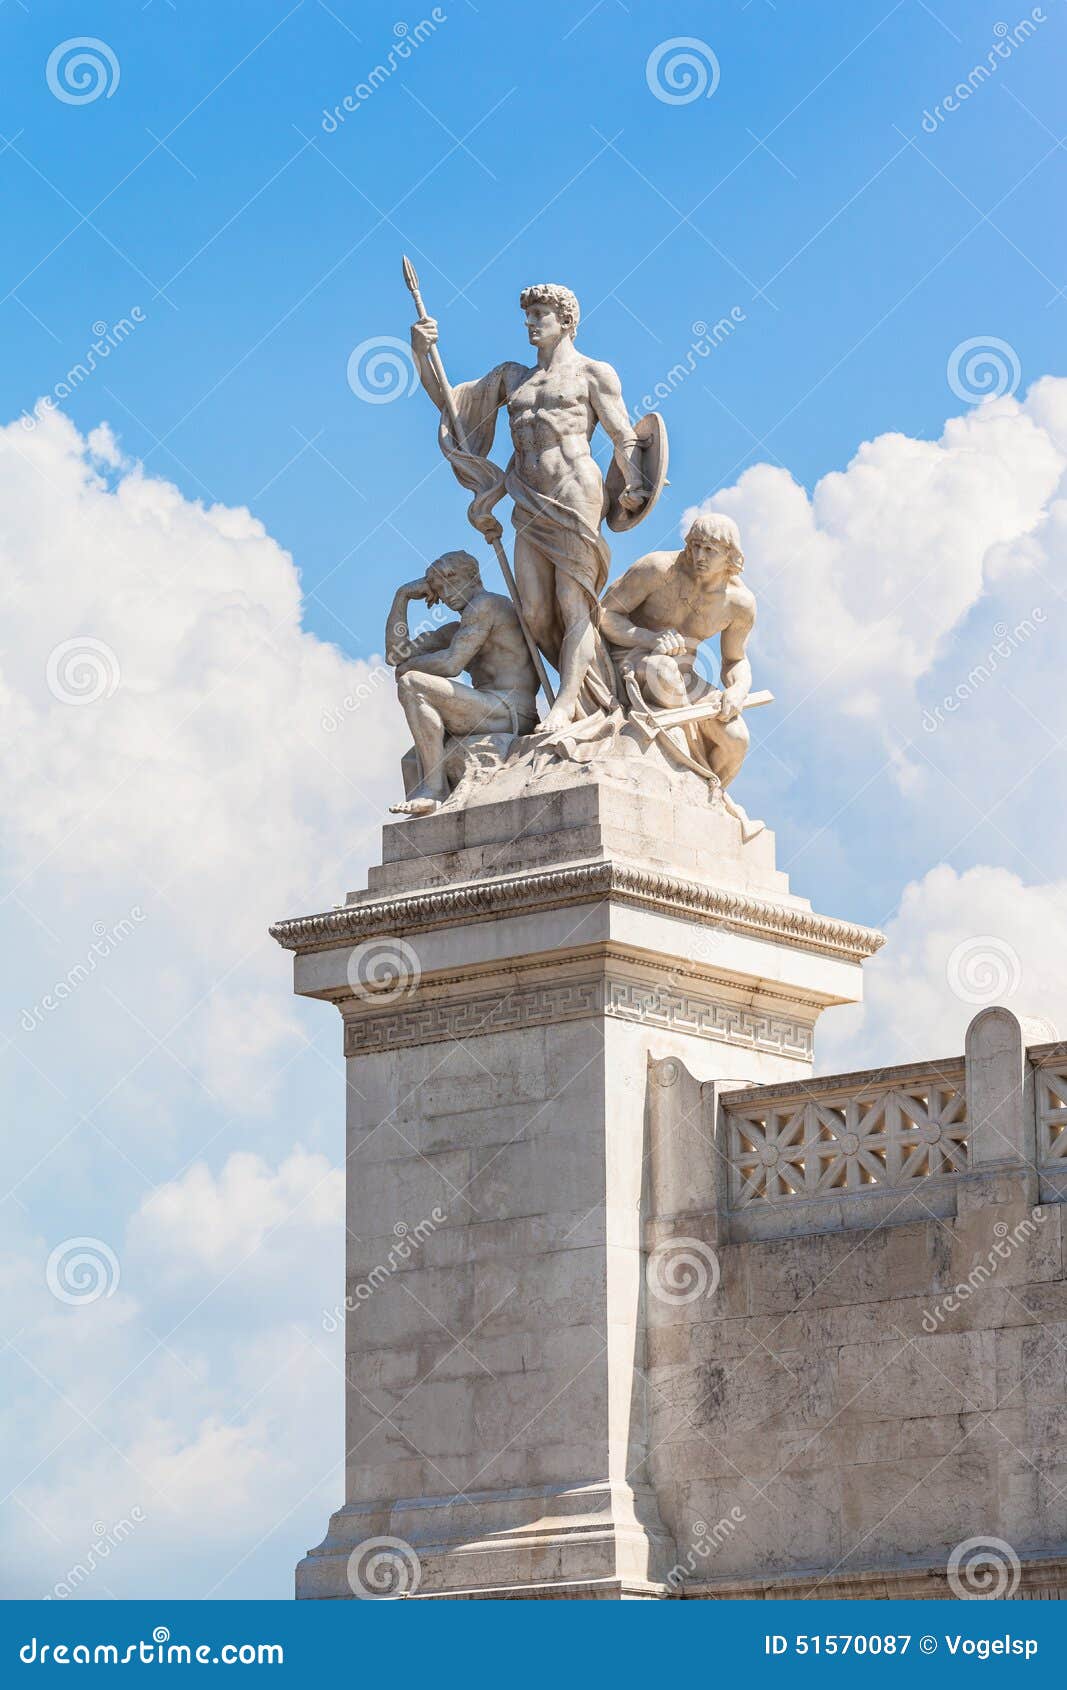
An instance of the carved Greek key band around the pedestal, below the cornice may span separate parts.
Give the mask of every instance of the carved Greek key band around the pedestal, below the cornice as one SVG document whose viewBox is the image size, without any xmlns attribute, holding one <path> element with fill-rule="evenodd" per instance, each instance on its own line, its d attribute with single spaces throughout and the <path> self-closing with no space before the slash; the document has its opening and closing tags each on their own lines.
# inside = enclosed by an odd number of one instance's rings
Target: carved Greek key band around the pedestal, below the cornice
<svg viewBox="0 0 1067 1690">
<path fill-rule="evenodd" d="M 805 1021 L 624 979 L 558 980 L 475 997 L 406 1002 L 387 1014 L 347 1017 L 345 1056 L 441 1039 L 470 1039 L 590 1016 L 639 1021 L 722 1044 L 742 1044 L 798 1061 L 812 1060 L 812 1026 Z"/>
</svg>

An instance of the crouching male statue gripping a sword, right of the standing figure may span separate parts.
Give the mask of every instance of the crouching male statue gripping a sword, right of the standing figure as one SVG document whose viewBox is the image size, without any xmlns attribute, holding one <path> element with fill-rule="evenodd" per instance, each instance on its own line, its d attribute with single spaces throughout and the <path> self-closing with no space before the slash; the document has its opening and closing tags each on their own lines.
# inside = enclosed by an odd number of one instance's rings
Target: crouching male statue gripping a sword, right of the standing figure
<svg viewBox="0 0 1067 1690">
<path fill-rule="evenodd" d="M 695 656 L 702 641 L 722 635 L 719 711 L 685 727 L 687 739 L 722 788 L 734 779 L 749 749 L 741 711 L 752 686 L 746 647 L 756 622 L 756 598 L 741 580 L 742 566 L 741 534 L 732 517 L 698 515 L 681 551 L 649 551 L 609 586 L 600 605 L 600 632 L 616 662 L 624 676 L 634 676 L 654 710 L 676 710 L 702 698 L 714 703 L 714 691 L 695 671 Z M 741 811 L 737 804 L 730 808 Z"/>
</svg>

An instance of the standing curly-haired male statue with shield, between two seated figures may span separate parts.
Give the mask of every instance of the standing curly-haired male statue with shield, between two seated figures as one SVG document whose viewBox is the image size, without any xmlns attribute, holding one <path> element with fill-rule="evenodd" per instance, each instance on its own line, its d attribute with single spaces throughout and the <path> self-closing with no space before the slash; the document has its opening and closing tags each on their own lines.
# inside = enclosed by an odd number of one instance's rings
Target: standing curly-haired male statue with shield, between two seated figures
<svg viewBox="0 0 1067 1690">
<path fill-rule="evenodd" d="M 595 624 L 610 561 L 600 534 L 604 478 L 588 444 L 597 422 L 616 450 L 621 510 L 641 510 L 649 488 L 619 377 L 610 363 L 587 358 L 575 346 L 578 301 L 572 291 L 539 282 L 524 289 L 519 304 L 538 355 L 533 368 L 499 363 L 480 380 L 455 387 L 451 395 L 465 446 L 479 458 L 487 458 L 497 411 L 507 406 L 514 456 L 504 488 L 514 502 L 519 602 L 539 651 L 560 671 L 560 693 L 543 723 L 551 733 L 575 718 L 590 671 L 599 673 L 602 691 L 612 686 Z M 423 387 L 445 414 L 445 395 L 430 360 L 436 340 L 436 319 L 421 316 L 411 330 L 411 346 Z M 490 512 L 472 514 L 472 521 L 487 537 L 501 532 Z"/>
</svg>

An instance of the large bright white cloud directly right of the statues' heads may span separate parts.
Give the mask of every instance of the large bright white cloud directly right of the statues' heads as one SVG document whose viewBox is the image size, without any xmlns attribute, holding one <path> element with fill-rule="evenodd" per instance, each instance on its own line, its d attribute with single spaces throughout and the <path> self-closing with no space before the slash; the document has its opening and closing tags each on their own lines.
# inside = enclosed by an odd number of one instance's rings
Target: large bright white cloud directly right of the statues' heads
<svg viewBox="0 0 1067 1690">
<path fill-rule="evenodd" d="M 697 509 L 729 512 L 761 602 L 776 681 L 891 717 L 982 593 L 1021 568 L 1064 495 L 1067 380 L 945 422 L 937 441 L 879 434 L 808 495 L 759 463 Z M 1059 522 L 1062 526 L 1062 509 Z M 1031 559 L 1033 561 L 1033 559 Z"/>
</svg>

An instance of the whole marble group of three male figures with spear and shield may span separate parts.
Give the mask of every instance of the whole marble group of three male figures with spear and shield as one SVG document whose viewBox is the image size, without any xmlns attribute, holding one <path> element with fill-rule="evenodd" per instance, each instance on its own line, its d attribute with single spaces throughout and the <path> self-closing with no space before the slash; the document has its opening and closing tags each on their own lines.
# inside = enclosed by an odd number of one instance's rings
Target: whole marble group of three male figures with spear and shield
<svg viewBox="0 0 1067 1690">
<path fill-rule="evenodd" d="M 404 260 L 418 318 L 411 346 L 440 412 L 440 446 L 473 497 L 468 519 L 492 546 L 507 595 L 489 592 L 477 559 L 445 551 L 396 593 L 386 630 L 399 701 L 411 728 L 406 798 L 394 811 L 431 815 L 467 799 L 475 781 L 516 757 L 602 759 L 626 742 L 698 776 L 714 804 L 751 821 L 727 796 L 749 744 L 742 711 L 768 703 L 752 691 L 747 639 L 756 600 L 729 515 L 700 514 L 681 549 L 651 551 L 607 585 L 604 526 L 641 522 L 666 482 L 666 429 L 658 414 L 631 422 L 619 375 L 577 346 L 578 301 L 568 287 L 526 287 L 519 306 L 533 363 L 497 363 L 450 385 L 438 324 Z M 512 456 L 492 451 L 507 411 Z M 590 443 L 600 424 L 612 444 L 607 475 Z M 509 495 L 514 571 L 494 507 Z M 445 605 L 455 620 L 409 630 L 409 605 Z M 719 635 L 719 686 L 700 673 L 700 647 Z M 546 664 L 558 673 L 558 688 Z M 462 676 L 467 674 L 468 681 Z M 538 691 L 546 713 L 538 717 Z"/>
</svg>

